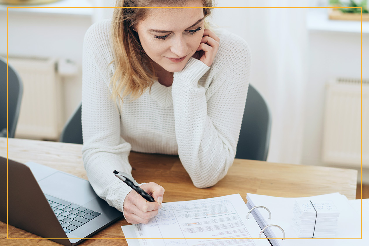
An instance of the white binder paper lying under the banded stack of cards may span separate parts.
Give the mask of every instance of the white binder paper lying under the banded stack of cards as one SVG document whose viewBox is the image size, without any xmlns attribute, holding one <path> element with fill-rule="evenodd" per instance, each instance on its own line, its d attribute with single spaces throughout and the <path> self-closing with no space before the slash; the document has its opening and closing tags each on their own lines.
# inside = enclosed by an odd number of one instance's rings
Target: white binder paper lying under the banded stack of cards
<svg viewBox="0 0 369 246">
<path fill-rule="evenodd" d="M 255 217 L 253 210 L 252 215 L 249 218 L 254 218 L 259 220 L 258 223 L 261 227 L 268 224 L 279 225 L 283 228 L 285 232 L 286 240 L 270 240 L 273 246 L 284 246 L 284 245 L 347 245 L 348 240 L 330 240 L 330 239 L 297 239 L 288 240 L 288 238 L 299 238 L 297 233 L 293 229 L 292 220 L 294 217 L 294 203 L 296 200 L 311 200 L 314 201 L 331 201 L 337 207 L 339 211 L 338 217 L 338 230 L 334 238 L 361 238 L 361 214 L 358 214 L 356 210 L 350 205 L 348 199 L 339 193 L 325 194 L 312 197 L 272 197 L 263 196 L 257 194 L 247 194 L 248 198 L 248 208 L 251 209 L 252 206 L 261 205 L 267 207 L 271 214 L 272 219 L 269 219 L 268 211 L 262 208 L 256 208 L 260 218 Z M 251 202 L 251 205 L 249 204 Z M 270 229 L 267 232 L 267 229 Z M 265 233 L 271 236 L 269 238 L 282 238 L 282 232 L 275 227 L 267 228 Z M 313 235 L 312 235 L 313 236 Z M 352 240 L 355 241 L 355 245 L 361 245 L 362 240 Z M 332 244 L 330 244 L 332 243 Z M 364 244 L 363 244 L 364 245 Z M 368 245 L 368 244 L 365 244 Z"/>
</svg>

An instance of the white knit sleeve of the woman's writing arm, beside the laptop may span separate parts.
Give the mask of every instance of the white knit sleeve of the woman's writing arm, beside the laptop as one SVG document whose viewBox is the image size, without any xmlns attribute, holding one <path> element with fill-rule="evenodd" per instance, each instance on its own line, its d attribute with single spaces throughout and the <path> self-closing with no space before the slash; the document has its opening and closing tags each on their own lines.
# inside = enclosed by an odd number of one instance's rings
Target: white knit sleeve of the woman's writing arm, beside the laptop
<svg viewBox="0 0 369 246">
<path fill-rule="evenodd" d="M 95 24 L 86 32 L 83 43 L 82 158 L 96 194 L 123 212 L 123 202 L 131 188 L 113 171 L 131 173 L 131 145 L 121 137 L 120 115 L 108 88 L 107 39 L 103 27 Z"/>
</svg>

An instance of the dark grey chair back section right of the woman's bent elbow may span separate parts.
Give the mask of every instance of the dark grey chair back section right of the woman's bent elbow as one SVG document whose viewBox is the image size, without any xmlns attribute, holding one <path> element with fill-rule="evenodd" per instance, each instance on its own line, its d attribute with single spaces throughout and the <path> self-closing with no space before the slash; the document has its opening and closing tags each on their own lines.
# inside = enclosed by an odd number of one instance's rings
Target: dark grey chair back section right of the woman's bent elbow
<svg viewBox="0 0 369 246">
<path fill-rule="evenodd" d="M 235 158 L 266 161 L 271 126 L 268 105 L 262 95 L 249 85 Z"/>
</svg>

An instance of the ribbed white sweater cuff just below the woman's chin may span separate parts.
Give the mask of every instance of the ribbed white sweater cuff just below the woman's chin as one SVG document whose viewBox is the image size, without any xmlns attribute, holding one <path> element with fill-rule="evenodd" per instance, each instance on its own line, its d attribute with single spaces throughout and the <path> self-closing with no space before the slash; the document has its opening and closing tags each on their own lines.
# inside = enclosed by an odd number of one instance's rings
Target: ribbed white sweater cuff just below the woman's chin
<svg viewBox="0 0 369 246">
<path fill-rule="evenodd" d="M 174 80 L 179 78 L 181 81 L 186 82 L 190 86 L 197 87 L 197 83 L 200 78 L 209 70 L 205 63 L 196 58 L 191 57 L 190 60 L 187 61 L 186 66 L 182 69 L 182 71 L 175 72 L 173 74 Z"/>
</svg>

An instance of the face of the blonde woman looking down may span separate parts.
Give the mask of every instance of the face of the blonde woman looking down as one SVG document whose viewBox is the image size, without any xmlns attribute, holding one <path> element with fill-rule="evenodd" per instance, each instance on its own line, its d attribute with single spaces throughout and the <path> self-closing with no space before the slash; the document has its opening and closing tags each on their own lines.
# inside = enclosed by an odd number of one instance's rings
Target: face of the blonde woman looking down
<svg viewBox="0 0 369 246">
<path fill-rule="evenodd" d="M 172 73 L 184 68 L 204 32 L 202 3 L 189 1 L 183 7 L 200 8 L 151 8 L 135 27 L 146 54 Z"/>
</svg>

